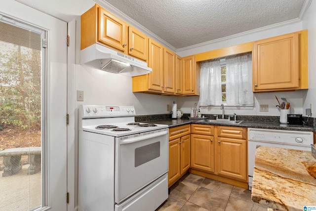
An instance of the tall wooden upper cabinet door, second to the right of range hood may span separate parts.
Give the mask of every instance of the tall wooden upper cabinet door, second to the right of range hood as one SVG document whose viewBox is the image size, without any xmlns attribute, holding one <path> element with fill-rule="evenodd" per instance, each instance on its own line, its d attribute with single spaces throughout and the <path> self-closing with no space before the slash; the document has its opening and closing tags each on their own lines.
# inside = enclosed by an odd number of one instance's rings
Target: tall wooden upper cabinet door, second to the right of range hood
<svg viewBox="0 0 316 211">
<path fill-rule="evenodd" d="M 164 48 L 163 92 L 175 93 L 176 54 Z"/>
</svg>

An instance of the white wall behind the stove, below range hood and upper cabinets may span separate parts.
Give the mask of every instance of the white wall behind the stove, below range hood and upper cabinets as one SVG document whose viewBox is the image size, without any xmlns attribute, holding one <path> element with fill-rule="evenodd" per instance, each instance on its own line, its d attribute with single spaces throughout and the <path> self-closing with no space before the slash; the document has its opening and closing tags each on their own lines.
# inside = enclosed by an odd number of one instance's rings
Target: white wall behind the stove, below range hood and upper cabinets
<svg viewBox="0 0 316 211">
<path fill-rule="evenodd" d="M 132 78 L 76 65 L 76 90 L 84 91 L 84 101 L 79 104 L 134 105 L 137 115 L 166 114 L 168 96 L 133 93 Z"/>
</svg>

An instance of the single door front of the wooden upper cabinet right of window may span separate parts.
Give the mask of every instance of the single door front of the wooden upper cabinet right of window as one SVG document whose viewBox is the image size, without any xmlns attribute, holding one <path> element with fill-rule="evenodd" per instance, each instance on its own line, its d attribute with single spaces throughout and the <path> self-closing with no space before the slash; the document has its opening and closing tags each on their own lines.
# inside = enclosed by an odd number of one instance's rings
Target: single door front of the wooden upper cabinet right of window
<svg viewBox="0 0 316 211">
<path fill-rule="evenodd" d="M 254 42 L 252 64 L 254 92 L 298 87 L 298 33 Z"/>
</svg>

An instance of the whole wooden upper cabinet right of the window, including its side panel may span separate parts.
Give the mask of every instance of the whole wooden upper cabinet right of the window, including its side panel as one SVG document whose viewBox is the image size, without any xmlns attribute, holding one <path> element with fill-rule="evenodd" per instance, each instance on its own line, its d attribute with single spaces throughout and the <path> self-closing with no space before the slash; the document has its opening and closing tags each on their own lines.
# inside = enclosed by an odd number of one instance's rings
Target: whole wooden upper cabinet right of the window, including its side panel
<svg viewBox="0 0 316 211">
<path fill-rule="evenodd" d="M 307 50 L 307 30 L 254 42 L 252 91 L 308 88 Z"/>
</svg>

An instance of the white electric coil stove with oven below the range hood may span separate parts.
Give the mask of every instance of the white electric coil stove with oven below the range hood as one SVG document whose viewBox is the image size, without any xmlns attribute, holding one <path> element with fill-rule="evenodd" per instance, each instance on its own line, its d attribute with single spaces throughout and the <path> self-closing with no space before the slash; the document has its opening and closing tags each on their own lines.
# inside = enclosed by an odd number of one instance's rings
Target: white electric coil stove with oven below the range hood
<svg viewBox="0 0 316 211">
<path fill-rule="evenodd" d="M 168 198 L 168 126 L 133 106 L 79 107 L 79 211 L 155 211 Z"/>
</svg>

